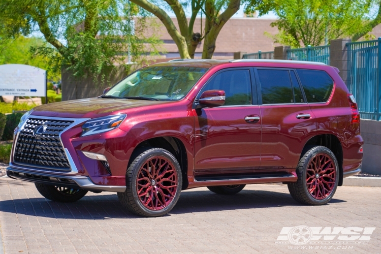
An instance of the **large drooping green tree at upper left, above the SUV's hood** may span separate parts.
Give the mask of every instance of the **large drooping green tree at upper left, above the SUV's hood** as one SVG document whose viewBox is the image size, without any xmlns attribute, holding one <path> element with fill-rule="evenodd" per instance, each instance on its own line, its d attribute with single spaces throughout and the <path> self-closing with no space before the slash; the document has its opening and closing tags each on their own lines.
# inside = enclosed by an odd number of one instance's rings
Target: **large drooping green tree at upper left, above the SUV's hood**
<svg viewBox="0 0 381 254">
<path fill-rule="evenodd" d="M 125 65 L 125 52 L 133 61 L 145 51 L 156 52 L 158 40 L 142 35 L 145 17 L 128 0 L 2 0 L 0 37 L 40 31 L 52 47 L 31 50 L 48 56 L 56 70 L 63 66 L 77 77 L 104 75 L 109 67 Z"/>
</svg>

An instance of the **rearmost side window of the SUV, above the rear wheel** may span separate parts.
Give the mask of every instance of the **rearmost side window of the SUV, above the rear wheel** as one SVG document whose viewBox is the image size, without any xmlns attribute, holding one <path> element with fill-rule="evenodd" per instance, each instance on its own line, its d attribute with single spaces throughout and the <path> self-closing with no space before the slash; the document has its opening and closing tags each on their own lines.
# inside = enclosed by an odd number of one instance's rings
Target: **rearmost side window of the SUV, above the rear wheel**
<svg viewBox="0 0 381 254">
<path fill-rule="evenodd" d="M 331 96 L 333 80 L 325 71 L 297 69 L 307 102 L 327 102 Z"/>
</svg>

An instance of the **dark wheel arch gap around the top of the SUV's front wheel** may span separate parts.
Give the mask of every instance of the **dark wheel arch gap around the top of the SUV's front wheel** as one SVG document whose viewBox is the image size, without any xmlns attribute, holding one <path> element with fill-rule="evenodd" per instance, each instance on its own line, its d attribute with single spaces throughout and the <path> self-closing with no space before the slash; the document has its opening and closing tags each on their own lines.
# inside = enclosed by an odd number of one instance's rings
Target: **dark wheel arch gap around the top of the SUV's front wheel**
<svg viewBox="0 0 381 254">
<path fill-rule="evenodd" d="M 137 156 L 137 153 L 140 153 L 142 149 L 146 147 L 158 147 L 168 150 L 175 156 L 176 160 L 180 164 L 181 167 L 181 173 L 182 173 L 182 189 L 186 189 L 188 187 L 188 178 L 187 178 L 187 172 L 188 172 L 188 158 L 186 153 L 186 148 L 183 142 L 176 138 L 171 136 L 164 136 L 164 137 L 154 137 L 150 139 L 146 139 L 144 141 L 141 141 L 132 152 L 132 156 L 129 160 L 129 167 L 131 163 L 133 162 L 134 158 Z"/>
</svg>

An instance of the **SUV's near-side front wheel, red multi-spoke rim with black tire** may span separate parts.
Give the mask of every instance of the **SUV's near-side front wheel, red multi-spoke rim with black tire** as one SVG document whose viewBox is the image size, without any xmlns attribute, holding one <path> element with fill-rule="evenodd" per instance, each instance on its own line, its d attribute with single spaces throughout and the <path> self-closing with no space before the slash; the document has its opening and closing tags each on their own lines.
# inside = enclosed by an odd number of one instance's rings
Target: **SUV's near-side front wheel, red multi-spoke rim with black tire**
<svg viewBox="0 0 381 254">
<path fill-rule="evenodd" d="M 135 157 L 125 181 L 125 191 L 118 193 L 125 208 L 140 216 L 162 216 L 172 210 L 180 197 L 181 168 L 169 151 L 147 148 Z"/>
</svg>

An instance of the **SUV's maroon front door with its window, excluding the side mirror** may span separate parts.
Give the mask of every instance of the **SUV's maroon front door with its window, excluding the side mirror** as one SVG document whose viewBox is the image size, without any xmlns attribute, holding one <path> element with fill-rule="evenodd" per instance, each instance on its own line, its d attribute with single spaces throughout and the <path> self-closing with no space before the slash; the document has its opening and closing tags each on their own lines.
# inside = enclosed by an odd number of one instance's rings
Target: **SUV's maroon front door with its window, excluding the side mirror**
<svg viewBox="0 0 381 254">
<path fill-rule="evenodd" d="M 249 173 L 259 168 L 261 112 L 252 79 L 249 68 L 228 69 L 203 87 L 201 92 L 224 90 L 226 101 L 224 106 L 195 110 L 195 176 Z"/>
</svg>

